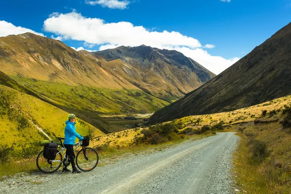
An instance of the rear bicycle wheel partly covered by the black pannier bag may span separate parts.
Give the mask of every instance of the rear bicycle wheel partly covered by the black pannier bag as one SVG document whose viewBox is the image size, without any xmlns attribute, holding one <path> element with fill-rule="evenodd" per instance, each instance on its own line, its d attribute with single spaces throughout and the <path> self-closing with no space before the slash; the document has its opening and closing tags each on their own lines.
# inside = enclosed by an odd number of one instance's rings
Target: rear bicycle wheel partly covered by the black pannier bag
<svg viewBox="0 0 291 194">
<path fill-rule="evenodd" d="M 57 171 L 63 162 L 63 156 L 61 153 L 58 153 L 56 155 L 55 160 L 56 162 L 51 162 L 49 163 L 48 159 L 44 158 L 44 152 L 45 150 L 42 150 L 36 157 L 36 166 L 37 168 L 43 172 L 43 173 L 53 173 L 55 171 Z M 58 150 L 59 152 L 59 150 Z"/>
</svg>

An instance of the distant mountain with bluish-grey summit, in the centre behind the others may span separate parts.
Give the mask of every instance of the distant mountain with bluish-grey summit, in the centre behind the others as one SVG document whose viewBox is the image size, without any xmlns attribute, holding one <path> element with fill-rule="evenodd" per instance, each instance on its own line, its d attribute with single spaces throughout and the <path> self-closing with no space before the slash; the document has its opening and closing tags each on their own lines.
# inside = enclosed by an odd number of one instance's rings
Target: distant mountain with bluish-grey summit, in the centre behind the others
<svg viewBox="0 0 291 194">
<path fill-rule="evenodd" d="M 210 81 L 215 75 L 176 50 L 147 47 L 118 47 L 92 52 L 109 62 L 102 66 L 147 94 L 167 102 L 177 99 Z"/>
</svg>

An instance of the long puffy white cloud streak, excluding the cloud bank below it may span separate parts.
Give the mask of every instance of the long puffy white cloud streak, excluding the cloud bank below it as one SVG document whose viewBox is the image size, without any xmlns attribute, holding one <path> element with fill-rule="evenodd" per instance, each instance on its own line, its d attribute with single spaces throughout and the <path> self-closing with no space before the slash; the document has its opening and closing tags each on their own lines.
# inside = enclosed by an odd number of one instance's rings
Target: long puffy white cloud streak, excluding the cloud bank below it
<svg viewBox="0 0 291 194">
<path fill-rule="evenodd" d="M 192 49 L 201 47 L 197 39 L 184 36 L 179 32 L 149 32 L 143 26 L 133 26 L 129 22 L 105 23 L 99 18 L 85 18 L 75 11 L 49 17 L 44 21 L 44 30 L 97 45 L 147 44 L 157 48 L 186 46 Z"/>
</svg>

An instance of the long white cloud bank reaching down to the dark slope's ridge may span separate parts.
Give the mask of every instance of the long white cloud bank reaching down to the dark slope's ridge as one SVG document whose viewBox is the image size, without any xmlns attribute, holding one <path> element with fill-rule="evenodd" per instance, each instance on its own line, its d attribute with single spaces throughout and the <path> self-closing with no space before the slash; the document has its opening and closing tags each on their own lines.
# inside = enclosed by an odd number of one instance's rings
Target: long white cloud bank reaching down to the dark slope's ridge
<svg viewBox="0 0 291 194">
<path fill-rule="evenodd" d="M 224 59 L 220 56 L 211 56 L 203 48 L 213 49 L 214 45 L 207 44 L 203 47 L 197 39 L 179 32 L 149 31 L 143 26 L 134 26 L 125 21 L 106 23 L 99 18 L 84 17 L 75 10 L 68 14 L 52 15 L 44 21 L 44 30 L 65 39 L 84 41 L 84 47 L 98 45 L 99 50 L 143 44 L 159 49 L 175 49 L 215 74 L 238 61 L 238 58 Z"/>
</svg>

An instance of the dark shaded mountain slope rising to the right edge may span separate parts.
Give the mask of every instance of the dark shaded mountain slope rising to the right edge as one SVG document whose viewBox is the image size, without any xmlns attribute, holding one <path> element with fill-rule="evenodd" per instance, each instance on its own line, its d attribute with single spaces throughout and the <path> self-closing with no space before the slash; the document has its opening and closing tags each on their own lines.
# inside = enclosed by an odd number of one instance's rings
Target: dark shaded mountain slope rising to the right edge
<svg viewBox="0 0 291 194">
<path fill-rule="evenodd" d="M 154 113 L 149 123 L 232 111 L 290 94 L 291 23 L 211 81 Z"/>
</svg>

